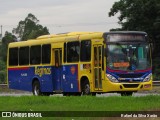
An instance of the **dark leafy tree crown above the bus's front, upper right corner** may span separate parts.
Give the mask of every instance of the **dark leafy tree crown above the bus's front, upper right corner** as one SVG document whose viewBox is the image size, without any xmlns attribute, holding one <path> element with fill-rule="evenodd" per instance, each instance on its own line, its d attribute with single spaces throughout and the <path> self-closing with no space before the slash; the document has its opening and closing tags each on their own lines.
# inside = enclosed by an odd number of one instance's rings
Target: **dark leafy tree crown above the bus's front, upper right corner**
<svg viewBox="0 0 160 120">
<path fill-rule="evenodd" d="M 146 31 L 152 39 L 160 38 L 159 0 L 120 0 L 114 3 L 109 16 L 117 13 L 122 26 L 119 30 Z"/>
</svg>

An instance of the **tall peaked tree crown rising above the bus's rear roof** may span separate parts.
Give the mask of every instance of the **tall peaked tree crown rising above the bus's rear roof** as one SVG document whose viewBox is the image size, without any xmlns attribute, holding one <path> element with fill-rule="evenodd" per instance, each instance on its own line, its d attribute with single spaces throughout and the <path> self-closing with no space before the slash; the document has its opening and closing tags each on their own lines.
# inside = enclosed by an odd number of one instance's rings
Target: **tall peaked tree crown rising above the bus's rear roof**
<svg viewBox="0 0 160 120">
<path fill-rule="evenodd" d="M 17 28 L 13 28 L 12 32 L 18 36 L 20 40 L 34 39 L 40 35 L 49 34 L 47 27 L 38 24 L 39 20 L 31 13 L 20 21 Z"/>
</svg>

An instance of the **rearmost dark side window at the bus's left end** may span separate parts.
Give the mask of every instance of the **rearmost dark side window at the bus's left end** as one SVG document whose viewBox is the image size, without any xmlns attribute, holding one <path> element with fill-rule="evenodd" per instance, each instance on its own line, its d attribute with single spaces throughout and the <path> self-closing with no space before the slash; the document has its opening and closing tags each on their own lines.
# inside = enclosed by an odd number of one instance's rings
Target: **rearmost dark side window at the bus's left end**
<svg viewBox="0 0 160 120">
<path fill-rule="evenodd" d="M 9 65 L 10 66 L 18 65 L 18 48 L 9 49 Z"/>
</svg>

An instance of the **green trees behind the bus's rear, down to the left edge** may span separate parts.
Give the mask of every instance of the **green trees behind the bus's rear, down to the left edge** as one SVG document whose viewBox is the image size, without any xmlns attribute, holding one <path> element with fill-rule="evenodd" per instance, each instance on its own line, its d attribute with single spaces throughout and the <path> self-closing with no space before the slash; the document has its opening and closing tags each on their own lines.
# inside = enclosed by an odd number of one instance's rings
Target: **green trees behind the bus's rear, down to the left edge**
<svg viewBox="0 0 160 120">
<path fill-rule="evenodd" d="M 35 15 L 29 13 L 24 20 L 21 20 L 12 33 L 6 31 L 0 45 L 0 83 L 6 83 L 7 49 L 10 42 L 35 39 L 40 35 L 49 34 L 47 27 L 39 24 Z"/>
</svg>

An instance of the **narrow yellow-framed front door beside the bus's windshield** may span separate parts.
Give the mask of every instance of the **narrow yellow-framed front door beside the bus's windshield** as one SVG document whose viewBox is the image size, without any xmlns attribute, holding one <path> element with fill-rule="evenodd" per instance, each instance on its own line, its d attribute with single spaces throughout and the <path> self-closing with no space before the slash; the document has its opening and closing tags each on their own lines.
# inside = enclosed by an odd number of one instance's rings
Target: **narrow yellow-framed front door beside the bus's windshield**
<svg viewBox="0 0 160 120">
<path fill-rule="evenodd" d="M 102 45 L 94 46 L 94 88 L 102 90 Z"/>
</svg>

